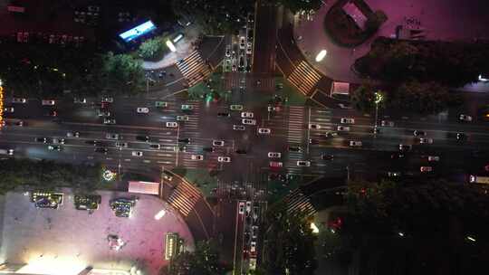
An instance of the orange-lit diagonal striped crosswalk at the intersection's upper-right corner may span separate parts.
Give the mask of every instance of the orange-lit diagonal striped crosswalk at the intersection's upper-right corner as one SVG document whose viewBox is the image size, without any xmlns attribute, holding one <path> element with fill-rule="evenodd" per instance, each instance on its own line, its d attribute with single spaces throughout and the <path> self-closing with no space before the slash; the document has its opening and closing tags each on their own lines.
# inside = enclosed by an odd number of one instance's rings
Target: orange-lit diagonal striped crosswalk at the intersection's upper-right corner
<svg viewBox="0 0 489 275">
<path fill-rule="evenodd" d="M 299 66 L 295 67 L 291 75 L 287 78 L 297 90 L 300 90 L 304 95 L 311 95 L 312 88 L 321 80 L 321 74 L 312 68 L 305 61 L 302 61 Z"/>
</svg>

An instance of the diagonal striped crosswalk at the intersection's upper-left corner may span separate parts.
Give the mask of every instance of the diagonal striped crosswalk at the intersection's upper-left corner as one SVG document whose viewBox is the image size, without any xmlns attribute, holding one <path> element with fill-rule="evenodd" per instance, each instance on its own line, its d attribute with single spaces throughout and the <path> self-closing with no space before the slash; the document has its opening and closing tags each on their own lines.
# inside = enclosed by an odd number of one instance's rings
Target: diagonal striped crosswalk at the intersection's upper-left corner
<svg viewBox="0 0 489 275">
<path fill-rule="evenodd" d="M 202 81 L 211 73 L 209 66 L 200 56 L 198 51 L 190 53 L 185 59 L 177 62 L 178 71 L 181 71 L 188 82 L 188 87 Z"/>
</svg>

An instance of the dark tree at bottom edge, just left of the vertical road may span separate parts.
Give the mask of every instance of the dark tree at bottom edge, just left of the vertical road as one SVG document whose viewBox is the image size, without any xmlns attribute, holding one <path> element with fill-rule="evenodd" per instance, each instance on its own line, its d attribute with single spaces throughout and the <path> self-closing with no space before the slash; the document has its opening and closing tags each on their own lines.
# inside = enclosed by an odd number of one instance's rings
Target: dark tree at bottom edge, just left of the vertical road
<svg viewBox="0 0 489 275">
<path fill-rule="evenodd" d="M 169 275 L 225 274 L 230 267 L 219 261 L 219 252 L 212 241 L 197 242 L 196 250 L 184 251 L 171 260 Z"/>
</svg>

